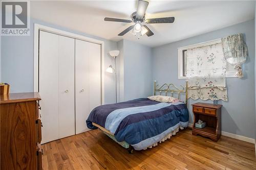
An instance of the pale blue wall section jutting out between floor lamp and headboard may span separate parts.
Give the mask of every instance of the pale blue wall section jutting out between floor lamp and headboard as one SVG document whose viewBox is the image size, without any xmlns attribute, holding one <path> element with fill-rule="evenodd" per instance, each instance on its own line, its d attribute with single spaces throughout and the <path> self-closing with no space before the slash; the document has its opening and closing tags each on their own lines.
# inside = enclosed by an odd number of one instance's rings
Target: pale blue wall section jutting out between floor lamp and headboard
<svg viewBox="0 0 256 170">
<path fill-rule="evenodd" d="M 119 101 L 152 95 L 151 47 L 129 40 L 118 42 Z"/>
</svg>

